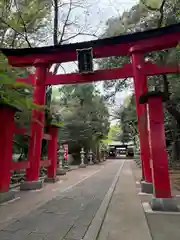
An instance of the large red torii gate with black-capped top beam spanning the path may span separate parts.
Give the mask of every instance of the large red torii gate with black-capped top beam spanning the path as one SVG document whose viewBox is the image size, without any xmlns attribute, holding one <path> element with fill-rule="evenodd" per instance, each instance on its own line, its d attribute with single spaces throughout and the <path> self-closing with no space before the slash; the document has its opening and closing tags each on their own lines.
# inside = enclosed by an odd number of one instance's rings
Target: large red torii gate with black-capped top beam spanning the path
<svg viewBox="0 0 180 240">
<path fill-rule="evenodd" d="M 163 202 L 163 204 L 167 205 L 168 209 L 172 210 L 176 209 L 176 206 L 173 204 L 170 190 L 170 180 L 167 164 L 168 161 L 165 149 L 162 94 L 147 93 L 146 77 L 151 75 L 177 73 L 180 72 L 180 69 L 179 66 L 157 66 L 156 64 L 152 64 L 149 61 L 145 62 L 144 54 L 146 52 L 176 47 L 179 40 L 180 24 L 175 24 L 161 29 L 153 29 L 145 32 L 89 42 L 32 49 L 2 49 L 2 52 L 8 57 L 9 64 L 14 67 L 36 67 L 37 71 L 34 76 L 31 75 L 27 79 L 17 79 L 17 81 L 24 81 L 35 86 L 34 103 L 38 105 L 45 104 L 46 85 L 86 83 L 99 80 L 112 80 L 133 77 L 138 116 L 138 130 L 140 135 L 141 161 L 143 166 L 142 170 L 144 172 L 145 178 L 145 181 L 142 183 L 142 190 L 146 192 L 152 190 L 153 177 L 155 196 L 153 206 L 156 208 L 158 205 L 159 207 L 159 204 Z M 85 48 L 92 48 L 94 58 L 128 55 L 131 57 L 132 63 L 125 64 L 122 68 L 98 70 L 86 75 L 78 73 L 52 75 L 50 72 L 48 72 L 49 66 L 53 63 L 62 63 L 77 60 L 76 50 Z M 140 97 L 141 104 L 139 103 Z M 147 102 L 149 108 L 151 152 L 149 148 L 149 137 L 147 129 Z M 42 123 L 42 126 L 44 125 L 43 112 L 33 110 L 32 115 L 33 118 L 38 119 L 38 121 Z M 32 185 L 34 187 L 37 187 L 37 183 L 39 186 L 38 178 L 40 168 L 41 143 L 43 136 L 42 126 L 35 122 L 31 123 L 32 138 L 28 153 L 30 168 L 27 169 L 25 183 L 27 189 L 31 189 Z M 2 140 L 1 137 L 0 140 Z M 4 148 L 5 146 L 3 144 L 3 141 L 1 141 L 0 154 L 3 152 L 4 155 L 6 155 L 8 150 L 4 152 Z M 54 151 L 56 148 L 57 146 L 54 146 Z M 8 155 L 7 158 L 10 158 L 10 156 Z M 150 167 L 151 160 L 152 170 Z M 4 167 L 7 168 L 6 165 L 4 165 Z M 7 172 L 8 171 L 6 171 L 6 173 Z M 5 176 L 5 174 L 3 177 L 0 177 L 0 191 L 2 178 L 8 179 L 8 177 L 9 176 Z"/>
</svg>

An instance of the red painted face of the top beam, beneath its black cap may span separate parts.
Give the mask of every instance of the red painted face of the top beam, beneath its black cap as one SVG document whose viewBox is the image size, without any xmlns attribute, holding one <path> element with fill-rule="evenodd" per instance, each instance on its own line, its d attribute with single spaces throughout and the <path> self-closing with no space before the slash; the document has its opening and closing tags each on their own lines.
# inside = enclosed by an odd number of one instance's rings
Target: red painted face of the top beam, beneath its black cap
<svg viewBox="0 0 180 240">
<path fill-rule="evenodd" d="M 104 45 L 93 48 L 94 58 L 103 58 L 110 56 L 127 56 L 134 45 L 141 46 L 144 52 L 172 48 L 178 45 L 180 33 L 167 34 L 166 36 L 154 37 L 146 40 L 139 40 L 131 43 Z M 131 49 L 132 50 L 132 49 Z M 38 61 L 36 61 L 38 59 Z M 56 49 L 49 54 L 32 54 L 26 56 L 9 56 L 9 64 L 16 67 L 39 66 L 41 64 L 53 64 L 76 61 L 76 50 Z"/>
</svg>

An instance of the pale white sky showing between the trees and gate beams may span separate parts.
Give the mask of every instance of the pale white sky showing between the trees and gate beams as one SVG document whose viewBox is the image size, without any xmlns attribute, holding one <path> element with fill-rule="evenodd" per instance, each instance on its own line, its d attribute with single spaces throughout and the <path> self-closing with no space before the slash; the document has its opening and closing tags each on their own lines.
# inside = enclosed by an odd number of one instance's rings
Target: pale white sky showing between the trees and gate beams
<svg viewBox="0 0 180 240">
<path fill-rule="evenodd" d="M 97 35 L 101 35 L 106 29 L 106 22 L 108 19 L 121 16 L 124 11 L 130 10 L 132 6 L 138 3 L 137 0 L 84 0 L 86 2 L 87 8 L 85 11 L 86 14 L 86 32 L 96 32 Z M 84 10 L 77 9 L 73 11 L 72 18 L 79 17 L 80 21 L 85 21 L 84 19 Z M 94 39 L 91 36 L 78 36 L 72 40 L 72 42 L 81 42 Z M 77 69 L 75 63 L 66 63 L 63 64 L 63 69 L 60 68 L 58 73 L 74 72 Z M 102 82 L 98 83 L 98 89 L 103 93 Z M 129 92 L 126 90 L 117 95 L 116 105 L 122 104 L 124 99 L 129 95 Z"/>
</svg>

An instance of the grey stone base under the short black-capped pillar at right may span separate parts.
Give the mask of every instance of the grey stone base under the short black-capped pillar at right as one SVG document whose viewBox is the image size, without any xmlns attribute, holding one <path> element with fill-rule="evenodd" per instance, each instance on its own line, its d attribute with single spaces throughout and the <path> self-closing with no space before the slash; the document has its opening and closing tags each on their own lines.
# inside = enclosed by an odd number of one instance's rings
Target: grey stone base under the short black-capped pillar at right
<svg viewBox="0 0 180 240">
<path fill-rule="evenodd" d="M 177 202 L 174 198 L 152 198 L 151 208 L 153 211 L 179 212 Z"/>
</svg>

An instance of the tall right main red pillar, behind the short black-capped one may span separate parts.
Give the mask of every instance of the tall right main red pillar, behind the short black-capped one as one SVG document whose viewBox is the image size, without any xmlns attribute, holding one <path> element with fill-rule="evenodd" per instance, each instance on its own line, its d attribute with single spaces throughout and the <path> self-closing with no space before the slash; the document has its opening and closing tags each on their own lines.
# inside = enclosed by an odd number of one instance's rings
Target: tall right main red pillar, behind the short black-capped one
<svg viewBox="0 0 180 240">
<path fill-rule="evenodd" d="M 150 149 L 147 129 L 147 105 L 139 104 L 139 97 L 147 92 L 147 79 L 144 74 L 144 56 L 141 53 L 132 54 L 132 64 L 134 69 L 134 89 L 136 96 L 136 111 L 138 117 L 138 131 L 140 135 L 141 161 L 143 162 L 143 173 L 146 182 L 152 182 L 150 168 Z"/>
</svg>

